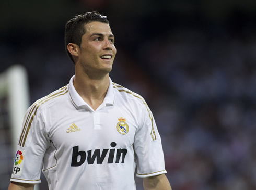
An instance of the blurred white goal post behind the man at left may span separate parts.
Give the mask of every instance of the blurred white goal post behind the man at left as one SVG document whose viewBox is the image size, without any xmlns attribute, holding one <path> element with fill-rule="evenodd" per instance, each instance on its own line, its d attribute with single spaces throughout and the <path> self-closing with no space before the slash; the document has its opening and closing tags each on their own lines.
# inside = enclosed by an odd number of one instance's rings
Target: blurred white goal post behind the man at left
<svg viewBox="0 0 256 190">
<path fill-rule="evenodd" d="M 27 72 L 21 65 L 9 67 L 0 75 L 0 97 L 7 97 L 7 109 L 11 127 L 12 151 L 15 151 L 26 110 L 29 107 Z"/>
</svg>

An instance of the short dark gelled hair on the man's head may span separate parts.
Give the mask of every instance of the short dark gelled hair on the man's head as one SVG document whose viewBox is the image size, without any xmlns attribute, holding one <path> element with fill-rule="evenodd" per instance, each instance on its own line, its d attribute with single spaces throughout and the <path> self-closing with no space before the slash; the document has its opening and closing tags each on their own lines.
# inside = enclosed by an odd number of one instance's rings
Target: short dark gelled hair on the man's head
<svg viewBox="0 0 256 190">
<path fill-rule="evenodd" d="M 98 21 L 109 24 L 107 16 L 100 14 L 99 12 L 86 12 L 84 15 L 76 15 L 75 18 L 72 18 L 67 21 L 65 25 L 64 41 L 65 41 L 65 50 L 69 58 L 75 64 L 75 61 L 72 55 L 67 50 L 67 45 L 69 43 L 74 43 L 80 47 L 82 36 L 85 34 L 85 24 L 88 24 L 92 21 Z"/>
</svg>

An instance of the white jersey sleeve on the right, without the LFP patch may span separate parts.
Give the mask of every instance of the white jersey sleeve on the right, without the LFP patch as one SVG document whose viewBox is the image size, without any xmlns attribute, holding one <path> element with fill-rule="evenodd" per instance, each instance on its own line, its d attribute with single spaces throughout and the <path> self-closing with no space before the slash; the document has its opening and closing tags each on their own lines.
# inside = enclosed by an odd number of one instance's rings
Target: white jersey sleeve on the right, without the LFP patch
<svg viewBox="0 0 256 190">
<path fill-rule="evenodd" d="M 135 134 L 134 151 L 137 162 L 137 177 L 167 173 L 161 138 L 152 112 L 147 105 L 141 113 L 141 123 Z"/>
</svg>

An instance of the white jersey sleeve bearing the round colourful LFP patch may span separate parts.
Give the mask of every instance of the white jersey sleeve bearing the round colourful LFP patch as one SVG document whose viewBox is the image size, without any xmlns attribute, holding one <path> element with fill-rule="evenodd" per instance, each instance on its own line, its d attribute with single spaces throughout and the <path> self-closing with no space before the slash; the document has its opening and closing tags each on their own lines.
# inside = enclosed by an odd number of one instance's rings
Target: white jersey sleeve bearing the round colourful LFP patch
<svg viewBox="0 0 256 190">
<path fill-rule="evenodd" d="M 48 147 L 42 111 L 32 105 L 26 112 L 10 181 L 40 183 L 42 160 Z"/>
</svg>

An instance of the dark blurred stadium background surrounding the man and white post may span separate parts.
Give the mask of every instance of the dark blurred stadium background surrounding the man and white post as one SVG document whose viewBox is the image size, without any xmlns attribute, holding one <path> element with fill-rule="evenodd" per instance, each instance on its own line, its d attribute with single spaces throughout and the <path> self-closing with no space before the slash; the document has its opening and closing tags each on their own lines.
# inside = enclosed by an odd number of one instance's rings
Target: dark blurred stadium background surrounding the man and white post
<svg viewBox="0 0 256 190">
<path fill-rule="evenodd" d="M 256 2 L 1 1 L 0 73 L 27 69 L 30 104 L 69 82 L 64 25 L 94 10 L 115 35 L 112 80 L 153 112 L 172 189 L 256 189 Z M 15 156 L 2 137 L 1 190 Z"/>
</svg>

